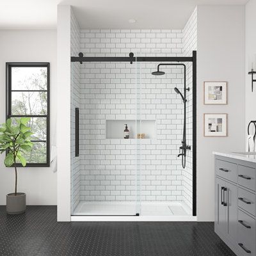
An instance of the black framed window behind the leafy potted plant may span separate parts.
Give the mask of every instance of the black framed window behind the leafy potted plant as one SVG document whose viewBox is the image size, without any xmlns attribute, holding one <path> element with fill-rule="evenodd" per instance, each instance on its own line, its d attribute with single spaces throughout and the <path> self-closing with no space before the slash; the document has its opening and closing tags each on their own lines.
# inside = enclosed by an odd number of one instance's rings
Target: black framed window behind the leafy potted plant
<svg viewBox="0 0 256 256">
<path fill-rule="evenodd" d="M 6 118 L 30 117 L 34 132 L 27 166 L 50 165 L 49 90 L 50 63 L 6 63 Z"/>
</svg>

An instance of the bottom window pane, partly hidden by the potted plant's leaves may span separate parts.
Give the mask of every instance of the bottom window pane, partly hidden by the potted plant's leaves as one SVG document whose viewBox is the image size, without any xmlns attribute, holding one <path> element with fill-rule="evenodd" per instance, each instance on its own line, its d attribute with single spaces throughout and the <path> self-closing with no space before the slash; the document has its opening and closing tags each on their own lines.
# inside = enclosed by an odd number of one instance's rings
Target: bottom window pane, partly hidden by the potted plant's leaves
<svg viewBox="0 0 256 256">
<path fill-rule="evenodd" d="M 22 153 L 27 163 L 46 163 L 46 142 L 33 142 L 31 152 Z"/>
</svg>

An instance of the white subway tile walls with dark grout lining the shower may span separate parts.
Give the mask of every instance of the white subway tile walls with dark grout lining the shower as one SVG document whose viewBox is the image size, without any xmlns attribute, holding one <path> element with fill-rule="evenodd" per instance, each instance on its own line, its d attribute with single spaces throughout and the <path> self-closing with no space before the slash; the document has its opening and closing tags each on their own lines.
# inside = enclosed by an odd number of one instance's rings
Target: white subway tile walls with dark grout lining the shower
<svg viewBox="0 0 256 256">
<path fill-rule="evenodd" d="M 78 25 L 73 23 L 73 31 L 77 32 Z M 77 33 L 72 33 L 72 54 L 77 56 L 81 51 L 84 56 L 129 56 L 129 52 L 134 52 L 134 56 L 191 56 L 195 45 L 190 46 L 190 40 L 196 35 L 191 35 L 193 24 L 188 24 L 184 31 L 80 29 L 79 49 Z M 182 170 L 181 159 L 177 158 L 182 140 L 183 104 L 173 88 L 183 92 L 184 71 L 179 66 L 161 67 L 166 74 L 152 76 L 151 72 L 156 71 L 157 64 L 111 62 L 72 66 L 74 76 L 80 77 L 79 83 L 77 80 L 71 83 L 74 91 L 72 106 L 79 105 L 81 113 L 80 156 L 72 162 L 74 205 L 77 204 L 77 196 L 86 201 L 136 200 L 136 140 L 106 139 L 106 120 L 124 120 L 125 124 L 125 120 L 135 120 L 138 113 L 140 116 L 137 118 L 156 120 L 154 138 L 140 140 L 140 199 L 185 201 L 192 205 L 191 152 L 186 171 Z M 192 86 L 191 67 L 187 72 L 187 83 Z M 140 111 L 137 109 L 136 92 L 140 93 Z M 190 145 L 191 93 L 188 96 L 187 131 Z M 137 132 L 146 130 L 143 127 Z"/>
</svg>

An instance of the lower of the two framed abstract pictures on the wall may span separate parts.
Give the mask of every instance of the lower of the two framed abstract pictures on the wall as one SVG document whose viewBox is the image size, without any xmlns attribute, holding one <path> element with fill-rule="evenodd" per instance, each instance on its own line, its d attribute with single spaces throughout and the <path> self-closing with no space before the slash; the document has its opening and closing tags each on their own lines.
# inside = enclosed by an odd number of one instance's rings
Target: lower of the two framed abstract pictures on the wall
<svg viewBox="0 0 256 256">
<path fill-rule="evenodd" d="M 204 114 L 204 136 L 205 137 L 227 137 L 228 136 L 228 114 L 205 113 Z"/>
</svg>

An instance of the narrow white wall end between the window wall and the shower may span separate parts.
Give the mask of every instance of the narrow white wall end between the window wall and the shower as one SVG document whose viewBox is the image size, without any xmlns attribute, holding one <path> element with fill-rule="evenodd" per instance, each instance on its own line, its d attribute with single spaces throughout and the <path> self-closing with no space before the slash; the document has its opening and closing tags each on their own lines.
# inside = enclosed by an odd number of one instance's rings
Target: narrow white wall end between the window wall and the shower
<svg viewBox="0 0 256 256">
<path fill-rule="evenodd" d="M 57 147 L 58 147 L 58 195 L 57 195 L 57 219 L 58 221 L 70 221 L 70 6 L 58 6 L 57 26 Z"/>
</svg>

